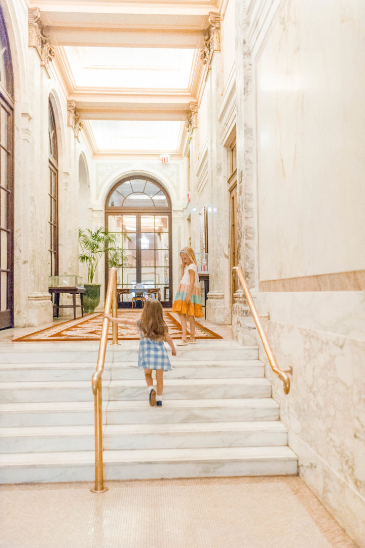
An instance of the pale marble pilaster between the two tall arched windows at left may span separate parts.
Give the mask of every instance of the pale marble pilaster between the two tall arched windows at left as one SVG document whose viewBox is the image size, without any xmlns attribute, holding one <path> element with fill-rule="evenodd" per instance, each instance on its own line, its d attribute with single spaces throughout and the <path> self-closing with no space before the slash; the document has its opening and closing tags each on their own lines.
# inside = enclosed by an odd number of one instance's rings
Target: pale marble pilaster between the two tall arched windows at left
<svg viewBox="0 0 365 548">
<path fill-rule="evenodd" d="M 15 169 L 15 327 L 52 322 L 48 293 L 49 175 L 47 71 L 34 48 L 28 53 L 26 131 L 15 134 L 15 153 L 27 169 Z M 24 109 L 23 109 L 24 110 Z M 24 125 L 24 124 L 23 124 Z M 19 202 L 20 204 L 19 204 Z M 19 205 L 19 207 L 18 207 Z M 27 219 L 23 220 L 26 215 Z"/>
</svg>

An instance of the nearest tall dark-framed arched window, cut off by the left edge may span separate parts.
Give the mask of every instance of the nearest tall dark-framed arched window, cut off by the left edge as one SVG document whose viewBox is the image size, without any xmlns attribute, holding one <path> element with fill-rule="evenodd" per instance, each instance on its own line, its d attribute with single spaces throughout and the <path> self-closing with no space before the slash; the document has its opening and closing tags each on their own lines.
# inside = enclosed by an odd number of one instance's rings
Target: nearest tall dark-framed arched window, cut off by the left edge
<svg viewBox="0 0 365 548">
<path fill-rule="evenodd" d="M 12 58 L 0 8 L 0 329 L 14 325 L 13 109 Z"/>
</svg>

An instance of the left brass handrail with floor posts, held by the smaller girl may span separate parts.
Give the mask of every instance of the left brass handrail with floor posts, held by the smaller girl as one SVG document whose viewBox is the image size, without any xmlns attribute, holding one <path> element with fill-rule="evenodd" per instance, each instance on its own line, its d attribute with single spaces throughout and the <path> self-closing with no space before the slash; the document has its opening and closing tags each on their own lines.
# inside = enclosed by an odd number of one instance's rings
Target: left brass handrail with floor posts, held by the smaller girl
<svg viewBox="0 0 365 548">
<path fill-rule="evenodd" d="M 116 295 L 116 270 L 109 271 L 108 289 L 106 289 L 105 312 L 113 312 L 117 316 Z M 118 344 L 117 324 L 113 322 L 113 344 Z M 109 319 L 103 319 L 102 335 L 100 336 L 99 353 L 96 370 L 92 376 L 92 388 L 94 394 L 95 415 L 95 487 L 93 493 L 104 493 L 108 487 L 104 487 L 103 477 L 103 399 L 102 399 L 102 375 L 105 363 L 106 344 L 108 343 Z"/>
</svg>

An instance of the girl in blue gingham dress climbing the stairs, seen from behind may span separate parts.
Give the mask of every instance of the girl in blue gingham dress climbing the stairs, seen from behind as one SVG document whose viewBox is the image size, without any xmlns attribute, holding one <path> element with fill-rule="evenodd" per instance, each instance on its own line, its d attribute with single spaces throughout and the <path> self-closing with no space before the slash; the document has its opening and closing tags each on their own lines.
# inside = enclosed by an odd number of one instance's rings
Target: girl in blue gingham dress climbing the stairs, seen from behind
<svg viewBox="0 0 365 548">
<path fill-rule="evenodd" d="M 162 315 L 162 305 L 157 299 L 148 299 L 138 321 L 134 319 L 114 318 L 105 314 L 112 322 L 137 327 L 141 333 L 139 340 L 138 367 L 144 369 L 148 387 L 150 406 L 162 406 L 164 390 L 164 371 L 171 370 L 171 363 L 164 341 L 171 347 L 172 356 L 176 356 L 175 346 L 169 335 L 169 329 Z M 156 372 L 156 390 L 153 387 L 152 372 Z"/>
</svg>

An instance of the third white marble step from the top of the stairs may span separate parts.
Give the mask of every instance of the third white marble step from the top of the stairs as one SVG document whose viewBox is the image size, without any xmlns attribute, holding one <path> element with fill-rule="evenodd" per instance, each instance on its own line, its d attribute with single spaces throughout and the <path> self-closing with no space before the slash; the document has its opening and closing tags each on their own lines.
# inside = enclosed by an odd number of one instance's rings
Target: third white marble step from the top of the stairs
<svg viewBox="0 0 365 548">
<path fill-rule="evenodd" d="M 103 398 L 145 399 L 145 380 L 103 383 Z M 271 383 L 262 379 L 164 379 L 165 399 L 270 397 Z M 0 383 L 4 403 L 89 401 L 93 399 L 91 380 Z"/>
</svg>

